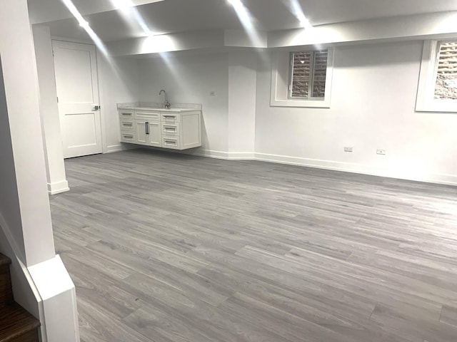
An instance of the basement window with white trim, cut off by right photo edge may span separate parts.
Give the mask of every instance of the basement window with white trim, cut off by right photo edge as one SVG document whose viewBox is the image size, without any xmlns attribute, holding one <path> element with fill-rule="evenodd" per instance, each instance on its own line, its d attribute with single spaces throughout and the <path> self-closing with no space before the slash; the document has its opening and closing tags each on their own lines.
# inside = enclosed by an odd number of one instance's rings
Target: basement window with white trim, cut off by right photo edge
<svg viewBox="0 0 457 342">
<path fill-rule="evenodd" d="M 457 113 L 457 40 L 424 42 L 416 111 Z"/>
</svg>

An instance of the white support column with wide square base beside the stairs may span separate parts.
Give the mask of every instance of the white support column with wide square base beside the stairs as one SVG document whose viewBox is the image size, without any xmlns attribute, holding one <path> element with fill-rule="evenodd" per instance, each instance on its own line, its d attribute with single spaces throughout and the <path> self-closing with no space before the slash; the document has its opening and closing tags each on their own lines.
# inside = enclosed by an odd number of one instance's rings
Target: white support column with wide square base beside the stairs
<svg viewBox="0 0 457 342">
<path fill-rule="evenodd" d="M 0 4 L 0 218 L 2 236 L 24 264 L 14 299 L 36 313 L 42 342 L 79 341 L 76 294 L 54 252 L 39 88 L 26 0 Z M 4 241 L 2 241 L 4 244 Z M 17 263 L 14 263 L 14 265 Z M 24 280 L 26 279 L 26 280 Z M 52 286 L 50 287 L 50 284 Z M 17 288 L 29 286 L 35 302 Z M 56 308 L 59 308 L 58 310 Z"/>
</svg>

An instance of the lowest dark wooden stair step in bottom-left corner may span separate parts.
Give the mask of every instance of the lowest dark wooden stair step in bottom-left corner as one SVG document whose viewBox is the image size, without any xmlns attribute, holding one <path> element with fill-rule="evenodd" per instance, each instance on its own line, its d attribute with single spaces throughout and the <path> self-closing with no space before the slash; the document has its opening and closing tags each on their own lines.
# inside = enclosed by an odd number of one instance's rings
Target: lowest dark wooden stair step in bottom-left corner
<svg viewBox="0 0 457 342">
<path fill-rule="evenodd" d="M 19 304 L 0 309 L 0 342 L 38 342 L 40 322 Z"/>
</svg>

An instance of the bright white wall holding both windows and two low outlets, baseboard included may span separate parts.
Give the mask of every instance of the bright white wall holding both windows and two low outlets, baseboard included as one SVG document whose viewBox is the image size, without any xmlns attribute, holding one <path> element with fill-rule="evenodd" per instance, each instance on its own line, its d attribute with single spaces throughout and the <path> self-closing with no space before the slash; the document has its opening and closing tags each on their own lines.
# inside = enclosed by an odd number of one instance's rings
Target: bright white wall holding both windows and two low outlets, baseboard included
<svg viewBox="0 0 457 342">
<path fill-rule="evenodd" d="M 271 64 L 259 63 L 256 157 L 457 183 L 457 115 L 414 111 L 422 46 L 337 47 L 330 109 L 270 107 Z"/>
</svg>

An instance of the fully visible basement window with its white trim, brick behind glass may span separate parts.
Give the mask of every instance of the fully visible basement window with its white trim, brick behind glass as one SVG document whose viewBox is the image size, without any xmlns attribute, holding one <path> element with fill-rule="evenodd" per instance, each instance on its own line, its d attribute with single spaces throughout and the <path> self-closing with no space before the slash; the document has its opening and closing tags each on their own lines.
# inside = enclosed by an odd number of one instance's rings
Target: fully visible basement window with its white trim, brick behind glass
<svg viewBox="0 0 457 342">
<path fill-rule="evenodd" d="M 330 108 L 333 48 L 273 56 L 272 106 Z"/>
</svg>

